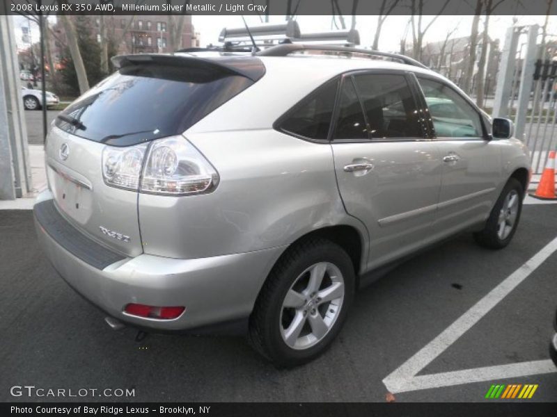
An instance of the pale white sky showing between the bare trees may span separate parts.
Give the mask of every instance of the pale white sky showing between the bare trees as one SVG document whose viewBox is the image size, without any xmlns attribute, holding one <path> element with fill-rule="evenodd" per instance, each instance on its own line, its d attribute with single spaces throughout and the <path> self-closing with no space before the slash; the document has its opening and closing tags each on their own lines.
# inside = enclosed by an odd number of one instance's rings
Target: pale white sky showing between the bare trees
<svg viewBox="0 0 557 417">
<path fill-rule="evenodd" d="M 246 16 L 248 24 L 260 24 L 258 16 Z M 346 16 L 346 24 L 350 26 L 350 19 L 352 17 Z M 423 17 L 423 26 L 426 26 L 433 16 Z M 425 42 L 435 42 L 444 40 L 447 33 L 454 31 L 451 35 L 453 37 L 468 36 L 472 23 L 472 16 L 440 16 L 432 24 L 429 31 L 425 35 Z M 21 26 L 26 25 L 26 19 L 22 16 L 14 16 L 16 39 L 18 46 L 23 46 L 21 43 Z M 54 17 L 53 17 L 54 19 Z M 545 16 L 499 16 L 493 15 L 489 24 L 489 35 L 492 39 L 503 40 L 505 38 L 505 31 L 508 27 L 512 26 L 513 19 L 516 19 L 517 25 L 528 24 L 544 24 Z M 270 22 L 279 23 L 284 21 L 284 16 L 271 16 Z M 331 30 L 331 16 L 298 16 L 297 22 L 300 31 L 316 32 L 316 31 L 329 31 Z M 389 16 L 384 23 L 381 38 L 379 40 L 379 49 L 382 51 L 398 51 L 400 48 L 400 39 L 404 36 L 409 16 Z M 194 24 L 195 31 L 200 34 L 201 45 L 218 43 L 219 33 L 223 27 L 239 27 L 243 26 L 242 17 L 235 16 L 193 16 L 192 23 Z M 357 16 L 356 29 L 359 31 L 361 47 L 370 47 L 373 42 L 373 35 L 377 26 L 377 16 Z M 481 23 L 480 23 L 481 28 Z M 557 39 L 557 17 L 551 16 L 549 18 L 548 33 L 554 35 Z M 31 27 L 31 35 L 33 42 L 38 41 L 38 28 L 36 25 Z M 411 32 L 409 32 L 408 41 L 411 40 Z"/>
</svg>

